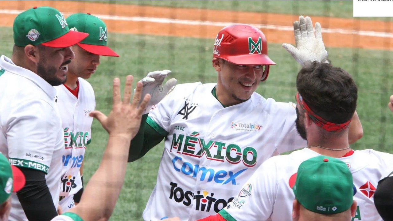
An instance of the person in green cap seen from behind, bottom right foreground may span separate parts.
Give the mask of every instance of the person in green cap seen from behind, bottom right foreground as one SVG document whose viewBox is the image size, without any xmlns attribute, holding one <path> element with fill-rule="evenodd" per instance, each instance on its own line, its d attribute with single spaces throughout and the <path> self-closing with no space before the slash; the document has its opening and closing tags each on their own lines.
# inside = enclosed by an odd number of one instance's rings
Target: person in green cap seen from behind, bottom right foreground
<svg viewBox="0 0 393 221">
<path fill-rule="evenodd" d="M 356 214 L 352 174 L 339 159 L 316 156 L 303 161 L 292 190 L 293 220 L 351 221 Z"/>
</svg>

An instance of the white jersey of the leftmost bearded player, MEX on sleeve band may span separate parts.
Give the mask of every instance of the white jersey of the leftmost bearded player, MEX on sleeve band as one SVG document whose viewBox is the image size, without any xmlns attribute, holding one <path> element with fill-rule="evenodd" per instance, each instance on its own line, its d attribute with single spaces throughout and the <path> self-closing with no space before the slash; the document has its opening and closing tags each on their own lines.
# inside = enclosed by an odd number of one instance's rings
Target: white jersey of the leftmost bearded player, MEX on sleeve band
<svg viewBox="0 0 393 221">
<path fill-rule="evenodd" d="M 11 165 L 45 172 L 57 208 L 64 132 L 54 99 L 56 89 L 4 55 L 0 68 L 0 152 Z M 28 221 L 15 193 L 9 220 Z"/>
</svg>

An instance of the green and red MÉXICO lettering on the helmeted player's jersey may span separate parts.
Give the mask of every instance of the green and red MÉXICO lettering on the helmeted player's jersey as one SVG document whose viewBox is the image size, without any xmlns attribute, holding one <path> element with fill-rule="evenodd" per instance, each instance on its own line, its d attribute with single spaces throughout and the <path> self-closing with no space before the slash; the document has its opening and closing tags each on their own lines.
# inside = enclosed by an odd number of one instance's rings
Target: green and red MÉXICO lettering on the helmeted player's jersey
<svg viewBox="0 0 393 221">
<path fill-rule="evenodd" d="M 199 132 L 190 135 L 173 133 L 170 152 L 185 154 L 200 158 L 205 156 L 207 159 L 215 161 L 228 161 L 232 164 L 244 163 L 247 167 L 253 167 L 257 163 L 257 150 L 253 147 L 241 148 L 240 145 L 214 140 L 204 140 L 198 138 Z"/>
</svg>

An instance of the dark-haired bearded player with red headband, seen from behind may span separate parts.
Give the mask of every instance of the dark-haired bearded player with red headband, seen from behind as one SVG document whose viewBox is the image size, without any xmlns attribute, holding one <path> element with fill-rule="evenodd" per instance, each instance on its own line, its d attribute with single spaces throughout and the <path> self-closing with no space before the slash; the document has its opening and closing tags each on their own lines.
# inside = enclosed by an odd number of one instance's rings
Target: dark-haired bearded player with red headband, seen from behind
<svg viewBox="0 0 393 221">
<path fill-rule="evenodd" d="M 352 150 L 348 142 L 349 122 L 356 109 L 357 86 L 345 70 L 330 63 L 305 63 L 296 79 L 296 128 L 307 140 L 307 148 L 266 160 L 233 194 L 233 200 L 212 220 L 292 220 L 295 196 L 305 197 L 294 184 L 298 182 L 299 165 L 316 156 L 330 156 L 347 164 L 353 176 L 353 199 L 356 212 L 352 221 L 382 221 L 373 202 L 378 181 L 393 166 L 393 154 L 372 149 Z M 301 167 L 302 168 L 302 167 Z M 344 181 L 345 178 L 342 178 Z M 301 182 L 301 181 L 299 181 Z M 320 191 L 333 194 L 334 190 L 321 185 Z M 344 183 L 343 186 L 344 188 Z M 294 191 L 295 190 L 295 194 Z M 314 199 L 320 199 L 315 194 Z M 342 199 L 344 202 L 344 198 Z M 348 205 L 321 205 L 313 208 L 322 212 L 342 212 Z"/>
</svg>

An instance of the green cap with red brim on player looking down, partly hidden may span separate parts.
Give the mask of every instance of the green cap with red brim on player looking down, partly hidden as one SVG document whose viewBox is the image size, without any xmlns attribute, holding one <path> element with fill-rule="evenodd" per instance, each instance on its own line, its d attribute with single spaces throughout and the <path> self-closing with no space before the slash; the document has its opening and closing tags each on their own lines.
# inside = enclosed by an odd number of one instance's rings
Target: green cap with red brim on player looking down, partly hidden
<svg viewBox="0 0 393 221">
<path fill-rule="evenodd" d="M 89 33 L 89 36 L 77 45 L 84 50 L 103 56 L 119 57 L 108 47 L 108 28 L 105 22 L 90 13 L 76 13 L 68 16 L 67 23 L 73 31 Z"/>
</svg>

